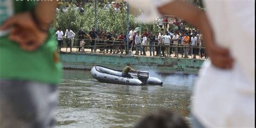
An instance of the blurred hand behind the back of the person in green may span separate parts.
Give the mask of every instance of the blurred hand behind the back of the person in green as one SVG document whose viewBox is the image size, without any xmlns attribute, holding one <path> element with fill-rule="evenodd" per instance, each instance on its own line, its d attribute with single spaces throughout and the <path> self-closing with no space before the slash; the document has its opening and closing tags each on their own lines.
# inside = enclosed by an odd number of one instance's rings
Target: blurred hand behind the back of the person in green
<svg viewBox="0 0 256 128">
<path fill-rule="evenodd" d="M 41 46 L 48 36 L 37 28 L 30 12 L 23 12 L 7 19 L 0 30 L 11 28 L 9 39 L 18 43 L 22 49 L 33 51 Z"/>
</svg>

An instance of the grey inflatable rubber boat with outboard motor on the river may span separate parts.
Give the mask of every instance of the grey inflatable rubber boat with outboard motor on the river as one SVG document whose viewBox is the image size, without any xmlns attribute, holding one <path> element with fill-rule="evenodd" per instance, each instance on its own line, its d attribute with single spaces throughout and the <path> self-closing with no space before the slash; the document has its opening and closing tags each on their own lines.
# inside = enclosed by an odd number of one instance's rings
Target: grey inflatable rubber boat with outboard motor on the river
<svg viewBox="0 0 256 128">
<path fill-rule="evenodd" d="M 99 82 L 125 84 L 125 85 L 162 85 L 163 82 L 156 77 L 149 77 L 149 72 L 138 71 L 137 73 L 131 72 L 132 78 L 122 77 L 122 72 L 105 68 L 103 66 L 93 66 L 91 75 Z"/>
</svg>

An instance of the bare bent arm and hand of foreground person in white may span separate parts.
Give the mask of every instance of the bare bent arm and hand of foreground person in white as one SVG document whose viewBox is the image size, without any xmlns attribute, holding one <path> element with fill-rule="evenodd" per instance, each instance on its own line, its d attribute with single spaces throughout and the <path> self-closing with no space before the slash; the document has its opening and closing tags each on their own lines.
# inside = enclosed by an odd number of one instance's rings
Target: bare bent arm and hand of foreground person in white
<svg viewBox="0 0 256 128">
<path fill-rule="evenodd" d="M 196 6 L 179 0 L 160 6 L 158 10 L 161 14 L 176 15 L 196 26 L 204 35 L 206 50 L 212 64 L 218 68 L 232 68 L 233 59 L 227 49 L 221 48 L 215 43 L 213 30 L 205 12 L 199 10 Z"/>
</svg>

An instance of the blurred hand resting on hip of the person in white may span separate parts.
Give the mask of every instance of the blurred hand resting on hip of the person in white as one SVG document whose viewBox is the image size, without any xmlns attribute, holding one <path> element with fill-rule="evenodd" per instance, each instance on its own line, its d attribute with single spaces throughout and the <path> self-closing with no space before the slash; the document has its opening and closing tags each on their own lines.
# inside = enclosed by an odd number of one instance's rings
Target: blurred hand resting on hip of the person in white
<svg viewBox="0 0 256 128">
<path fill-rule="evenodd" d="M 214 66 L 220 69 L 232 69 L 233 58 L 227 49 L 221 48 L 216 44 L 206 47 L 211 62 Z"/>
</svg>

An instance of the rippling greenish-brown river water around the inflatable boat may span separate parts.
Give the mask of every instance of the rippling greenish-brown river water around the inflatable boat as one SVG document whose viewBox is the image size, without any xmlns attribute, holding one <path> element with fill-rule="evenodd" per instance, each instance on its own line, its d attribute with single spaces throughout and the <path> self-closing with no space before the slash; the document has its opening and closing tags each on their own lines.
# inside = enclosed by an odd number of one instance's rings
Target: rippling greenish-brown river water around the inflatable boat
<svg viewBox="0 0 256 128">
<path fill-rule="evenodd" d="M 163 80 L 163 86 L 99 83 L 90 71 L 64 70 L 55 127 L 133 127 L 159 108 L 176 111 L 189 121 L 196 76 L 150 75 Z"/>
</svg>

